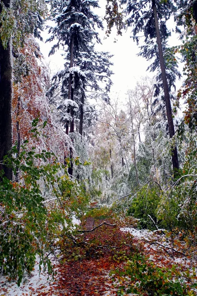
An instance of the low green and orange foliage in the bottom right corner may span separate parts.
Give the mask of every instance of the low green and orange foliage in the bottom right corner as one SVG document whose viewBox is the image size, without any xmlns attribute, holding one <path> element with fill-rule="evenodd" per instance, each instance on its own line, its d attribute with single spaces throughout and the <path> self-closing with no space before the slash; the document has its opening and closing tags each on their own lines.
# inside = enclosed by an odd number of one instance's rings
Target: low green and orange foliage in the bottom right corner
<svg viewBox="0 0 197 296">
<path fill-rule="evenodd" d="M 111 275 L 118 275 L 120 281 L 125 283 L 119 287 L 118 295 L 134 293 L 135 295 L 146 296 L 170 296 L 170 295 L 191 295 L 195 292 L 187 285 L 187 280 L 195 279 L 196 273 L 190 275 L 189 271 L 180 272 L 176 265 L 172 268 L 158 267 L 154 262 L 141 254 L 134 254 L 127 262 L 124 271 L 118 269 L 111 272 Z"/>
</svg>

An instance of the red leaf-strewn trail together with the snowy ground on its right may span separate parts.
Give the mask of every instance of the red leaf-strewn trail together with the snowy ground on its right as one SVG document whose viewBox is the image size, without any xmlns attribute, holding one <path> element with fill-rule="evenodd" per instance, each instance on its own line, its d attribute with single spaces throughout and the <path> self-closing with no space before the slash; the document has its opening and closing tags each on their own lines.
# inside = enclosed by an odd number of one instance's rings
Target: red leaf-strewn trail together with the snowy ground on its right
<svg viewBox="0 0 197 296">
<path fill-rule="evenodd" d="M 112 223 L 110 220 L 95 220 L 88 217 L 83 229 L 91 230 L 103 222 Z M 95 245 L 88 249 L 85 259 L 70 261 L 59 265 L 57 285 L 52 285 L 47 293 L 41 292 L 38 296 L 117 296 L 118 280 L 114 282 L 109 276 L 111 270 L 123 269 L 128 260 L 127 254 L 132 252 L 142 252 L 159 266 L 172 267 L 178 264 L 182 270 L 195 266 L 195 262 L 189 258 L 182 257 L 181 253 L 172 252 L 168 239 L 162 231 L 138 230 L 135 227 L 125 227 L 123 224 L 115 226 L 102 225 L 86 233 L 86 241 L 92 241 L 96 245 L 107 245 L 108 248 L 101 248 L 101 253 Z M 125 225 L 127 226 L 127 225 Z M 131 233 L 132 232 L 132 235 Z M 151 243 L 146 243 L 151 241 Z M 161 245 L 160 245 L 161 244 Z M 161 247 L 162 245 L 165 246 Z M 110 246 L 120 248 L 118 252 L 112 251 Z M 184 246 L 179 245 L 179 250 Z M 170 248 L 170 247 L 169 247 Z M 122 279 L 121 279 L 122 280 Z M 120 281 L 120 279 L 119 279 Z M 121 282 L 121 281 L 120 281 Z M 118 284 L 118 285 L 116 285 Z M 125 294 L 126 295 L 126 294 Z M 133 295 L 133 294 L 129 294 Z M 146 294 L 144 294 L 146 295 Z"/>
</svg>

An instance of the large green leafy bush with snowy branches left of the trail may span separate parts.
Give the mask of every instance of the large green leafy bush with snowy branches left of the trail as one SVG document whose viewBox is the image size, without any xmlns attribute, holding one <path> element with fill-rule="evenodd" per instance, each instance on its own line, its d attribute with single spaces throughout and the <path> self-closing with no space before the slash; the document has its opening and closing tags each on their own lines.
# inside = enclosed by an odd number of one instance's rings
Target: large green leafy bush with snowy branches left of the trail
<svg viewBox="0 0 197 296">
<path fill-rule="evenodd" d="M 35 137 L 36 126 L 34 120 Z M 69 179 L 54 153 L 29 150 L 27 145 L 25 141 L 18 157 L 14 156 L 14 146 L 4 158 L 4 164 L 15 175 L 18 172 L 18 180 L 10 182 L 0 172 L 0 269 L 10 279 L 17 279 L 18 285 L 24 272 L 33 270 L 36 254 L 40 266 L 52 273 L 48 252 L 56 248 L 62 232 L 71 233 L 73 215 L 81 217 L 89 201 L 83 185 Z M 48 192 L 47 199 L 43 188 Z"/>
</svg>

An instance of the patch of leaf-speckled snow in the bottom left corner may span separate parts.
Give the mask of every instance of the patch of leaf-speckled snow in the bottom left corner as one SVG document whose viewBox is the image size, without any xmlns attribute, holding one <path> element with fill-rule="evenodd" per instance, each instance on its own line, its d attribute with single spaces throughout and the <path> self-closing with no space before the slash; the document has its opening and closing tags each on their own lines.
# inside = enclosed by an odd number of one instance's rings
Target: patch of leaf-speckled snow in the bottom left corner
<svg viewBox="0 0 197 296">
<path fill-rule="evenodd" d="M 56 266 L 57 260 L 51 258 L 52 264 Z M 21 283 L 21 286 L 18 287 L 15 281 L 8 282 L 8 276 L 2 275 L 0 273 L 0 296 L 36 296 L 38 292 L 47 292 L 50 290 L 51 285 L 55 284 L 52 276 L 48 278 L 47 271 L 40 272 L 39 275 L 39 257 L 36 257 L 36 264 L 34 270 L 31 272 L 30 276 L 26 276 Z M 37 292 L 36 292 L 37 290 Z"/>
</svg>

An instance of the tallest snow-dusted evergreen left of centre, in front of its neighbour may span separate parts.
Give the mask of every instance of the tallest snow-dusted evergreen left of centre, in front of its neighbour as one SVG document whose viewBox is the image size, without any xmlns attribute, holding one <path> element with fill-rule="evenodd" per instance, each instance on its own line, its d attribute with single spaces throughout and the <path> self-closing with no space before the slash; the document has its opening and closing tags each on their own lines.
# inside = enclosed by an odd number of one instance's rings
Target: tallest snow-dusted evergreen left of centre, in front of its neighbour
<svg viewBox="0 0 197 296">
<path fill-rule="evenodd" d="M 65 65 L 65 70 L 59 73 L 62 79 L 62 96 L 67 104 L 67 112 L 70 113 L 70 132 L 74 131 L 74 107 L 71 101 L 74 101 L 74 92 L 83 89 L 85 83 L 85 74 L 75 67 L 76 59 L 80 52 L 89 52 L 90 42 L 99 36 L 95 31 L 95 25 L 102 28 L 102 22 L 99 17 L 92 12 L 91 6 L 99 7 L 97 1 L 82 0 L 58 0 L 52 1 L 52 19 L 57 26 L 50 28 L 49 33 L 52 36 L 48 41 L 57 38 L 57 43 L 53 45 L 50 54 L 62 45 L 68 54 L 66 60 L 69 65 Z M 68 134 L 68 120 L 66 120 L 66 134 Z"/>
</svg>

